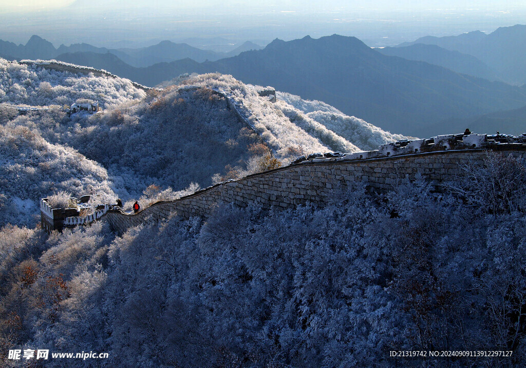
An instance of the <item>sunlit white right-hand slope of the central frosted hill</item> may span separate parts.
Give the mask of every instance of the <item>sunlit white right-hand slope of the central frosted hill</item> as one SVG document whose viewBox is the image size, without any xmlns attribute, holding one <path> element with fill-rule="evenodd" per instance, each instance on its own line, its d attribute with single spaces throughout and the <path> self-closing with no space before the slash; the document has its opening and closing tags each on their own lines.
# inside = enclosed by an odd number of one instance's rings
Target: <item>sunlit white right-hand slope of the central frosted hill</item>
<svg viewBox="0 0 526 368">
<path fill-rule="evenodd" d="M 308 153 L 356 152 L 406 138 L 347 116 L 320 101 L 277 92 L 277 102 L 270 103 L 268 98 L 258 95 L 263 87 L 245 85 L 231 76 L 204 74 L 186 83 L 221 90 L 250 111 L 254 128 L 281 158 L 288 158 L 292 147 Z"/>
</svg>

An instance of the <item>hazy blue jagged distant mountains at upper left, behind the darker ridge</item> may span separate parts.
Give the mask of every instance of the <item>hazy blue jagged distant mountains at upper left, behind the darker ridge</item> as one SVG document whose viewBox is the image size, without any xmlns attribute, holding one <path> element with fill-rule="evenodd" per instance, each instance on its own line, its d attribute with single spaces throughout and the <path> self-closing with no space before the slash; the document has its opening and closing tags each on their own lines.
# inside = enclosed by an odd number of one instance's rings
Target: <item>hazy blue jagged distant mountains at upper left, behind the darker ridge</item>
<svg viewBox="0 0 526 368">
<path fill-rule="evenodd" d="M 39 37 L 32 36 L 26 45 L 16 45 L 12 42 L 0 40 L 0 56 L 6 59 L 54 59 L 63 54 L 96 53 L 113 54 L 130 66 L 146 67 L 156 63 L 172 62 L 184 58 L 191 58 L 197 62 L 218 60 L 225 57 L 236 56 L 247 50 L 256 50 L 261 47 L 245 42 L 226 53 L 217 53 L 202 50 L 185 43 L 176 44 L 171 41 L 162 41 L 156 45 L 141 48 L 107 49 L 89 44 L 60 45 L 55 48 L 52 43 Z"/>
</svg>

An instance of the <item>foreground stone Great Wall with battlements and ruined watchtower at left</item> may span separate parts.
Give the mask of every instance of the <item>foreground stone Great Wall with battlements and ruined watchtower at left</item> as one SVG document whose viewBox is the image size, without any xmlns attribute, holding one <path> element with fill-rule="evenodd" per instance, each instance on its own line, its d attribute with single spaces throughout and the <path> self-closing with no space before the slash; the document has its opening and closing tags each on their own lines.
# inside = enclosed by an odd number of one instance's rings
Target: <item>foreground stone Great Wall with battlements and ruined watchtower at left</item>
<svg viewBox="0 0 526 368">
<path fill-rule="evenodd" d="M 229 180 L 173 201 L 158 202 L 137 214 L 106 206 L 90 218 L 72 219 L 68 209 L 52 209 L 41 201 L 42 227 L 47 231 L 96 220 L 108 221 L 119 234 L 140 224 L 170 216 L 209 216 L 220 203 L 245 207 L 294 208 L 307 202 L 323 206 L 335 190 L 361 182 L 371 191 L 386 191 L 418 174 L 440 186 L 460 174 L 460 165 L 482 163 L 489 151 L 526 158 L 526 135 L 459 134 L 403 140 L 378 150 L 309 155 L 278 169 Z M 70 211 L 71 212 L 71 211 Z"/>
</svg>

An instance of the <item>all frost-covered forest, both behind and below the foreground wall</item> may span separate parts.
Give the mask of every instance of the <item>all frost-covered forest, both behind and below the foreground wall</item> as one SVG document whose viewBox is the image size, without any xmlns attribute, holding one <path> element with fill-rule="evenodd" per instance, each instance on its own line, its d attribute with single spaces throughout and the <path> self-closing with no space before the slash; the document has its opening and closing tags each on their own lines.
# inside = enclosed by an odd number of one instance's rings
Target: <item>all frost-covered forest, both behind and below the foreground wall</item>
<svg viewBox="0 0 526 368">
<path fill-rule="evenodd" d="M 526 358 L 523 161 L 489 154 L 440 192 L 424 178 L 382 195 L 357 184 L 333 189 L 323 207 L 226 204 L 208 219 L 173 217 L 122 237 L 105 221 L 48 236 L 37 203 L 55 193 L 144 208 L 299 155 L 403 137 L 320 101 L 278 92 L 270 103 L 263 87 L 231 76 L 145 92 L 125 79 L 0 62 L 0 346 L 108 352 L 90 363 L 122 367 L 508 367 Z M 103 111 L 69 115 L 62 105 L 78 99 Z M 395 359 L 391 350 L 513 355 Z M 6 354 L 0 365 L 15 366 Z"/>
</svg>

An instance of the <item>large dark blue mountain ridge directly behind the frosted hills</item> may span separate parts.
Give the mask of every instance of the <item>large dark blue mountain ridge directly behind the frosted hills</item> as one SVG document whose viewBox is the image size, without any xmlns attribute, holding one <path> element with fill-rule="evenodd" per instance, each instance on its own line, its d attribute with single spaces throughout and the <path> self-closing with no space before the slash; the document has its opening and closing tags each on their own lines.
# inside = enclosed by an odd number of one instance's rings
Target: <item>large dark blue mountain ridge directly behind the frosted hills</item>
<svg viewBox="0 0 526 368">
<path fill-rule="evenodd" d="M 64 61 L 82 64 L 82 58 L 77 55 Z M 183 59 L 146 68 L 99 67 L 147 86 L 184 73 L 232 74 L 245 83 L 272 85 L 302 98 L 323 100 L 347 115 L 412 136 L 421 132 L 420 126 L 444 118 L 467 118 L 526 104 L 523 87 L 386 56 L 356 37 L 338 35 L 289 42 L 275 39 L 264 49 L 216 62 Z"/>
</svg>

